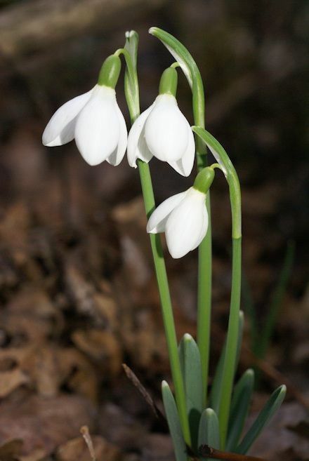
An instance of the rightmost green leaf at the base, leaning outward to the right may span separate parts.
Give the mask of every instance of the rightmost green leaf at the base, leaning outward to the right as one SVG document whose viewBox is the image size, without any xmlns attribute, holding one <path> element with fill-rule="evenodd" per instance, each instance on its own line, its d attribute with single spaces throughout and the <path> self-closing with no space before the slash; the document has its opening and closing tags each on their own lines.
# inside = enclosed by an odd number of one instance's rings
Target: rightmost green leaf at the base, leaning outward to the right
<svg viewBox="0 0 309 461">
<path fill-rule="evenodd" d="M 242 439 L 242 443 L 240 443 L 237 447 L 237 453 L 240 453 L 242 455 L 245 455 L 247 453 L 252 443 L 254 443 L 254 441 L 261 433 L 263 428 L 268 424 L 268 422 L 270 422 L 270 419 L 280 407 L 286 392 L 287 387 L 283 385 L 278 387 L 275 390 L 275 392 L 272 393 L 270 399 L 267 403 L 265 403 L 265 406 L 258 414 L 258 417 L 254 421 L 253 425 L 250 427 L 249 431 L 244 436 L 244 439 Z"/>
</svg>

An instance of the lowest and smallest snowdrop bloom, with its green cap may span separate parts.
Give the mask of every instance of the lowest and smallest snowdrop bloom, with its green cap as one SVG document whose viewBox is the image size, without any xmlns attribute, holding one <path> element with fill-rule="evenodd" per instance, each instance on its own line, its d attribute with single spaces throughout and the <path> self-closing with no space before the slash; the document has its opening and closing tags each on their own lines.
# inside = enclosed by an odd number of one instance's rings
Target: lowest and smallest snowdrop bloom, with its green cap
<svg viewBox="0 0 309 461">
<path fill-rule="evenodd" d="M 166 199 L 150 216 L 147 232 L 165 232 L 173 258 L 182 258 L 202 242 L 208 228 L 206 192 L 213 181 L 213 168 L 204 168 L 190 189 Z"/>
</svg>

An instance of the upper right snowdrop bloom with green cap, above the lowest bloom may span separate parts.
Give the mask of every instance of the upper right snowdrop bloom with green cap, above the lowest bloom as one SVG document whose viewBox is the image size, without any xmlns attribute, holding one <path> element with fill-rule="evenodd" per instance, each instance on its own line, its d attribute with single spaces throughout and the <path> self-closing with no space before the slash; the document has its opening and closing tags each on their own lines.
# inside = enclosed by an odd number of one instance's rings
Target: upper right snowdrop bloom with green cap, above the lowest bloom
<svg viewBox="0 0 309 461">
<path fill-rule="evenodd" d="M 136 160 L 148 163 L 152 156 L 166 161 L 180 175 L 188 176 L 195 160 L 195 140 L 175 98 L 177 72 L 166 69 L 161 77 L 159 95 L 133 123 L 128 138 L 128 161 L 136 168 Z"/>
</svg>

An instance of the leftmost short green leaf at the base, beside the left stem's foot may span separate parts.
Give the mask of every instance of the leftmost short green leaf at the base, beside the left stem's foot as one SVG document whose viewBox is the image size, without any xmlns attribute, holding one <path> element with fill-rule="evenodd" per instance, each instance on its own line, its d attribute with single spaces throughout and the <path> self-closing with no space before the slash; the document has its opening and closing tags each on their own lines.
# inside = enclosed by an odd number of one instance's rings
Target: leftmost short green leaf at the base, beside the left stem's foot
<svg viewBox="0 0 309 461">
<path fill-rule="evenodd" d="M 169 432 L 173 441 L 176 461 L 188 461 L 187 448 L 183 439 L 178 411 L 171 389 L 166 381 L 162 381 L 162 398 Z"/>
</svg>

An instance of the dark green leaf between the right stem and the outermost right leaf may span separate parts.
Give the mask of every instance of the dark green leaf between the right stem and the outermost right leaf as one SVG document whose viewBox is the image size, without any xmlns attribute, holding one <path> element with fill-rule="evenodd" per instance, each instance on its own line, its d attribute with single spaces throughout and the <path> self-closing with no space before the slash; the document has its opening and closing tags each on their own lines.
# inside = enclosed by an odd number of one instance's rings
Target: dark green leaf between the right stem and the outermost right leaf
<svg viewBox="0 0 309 461">
<path fill-rule="evenodd" d="M 252 392 L 254 390 L 254 370 L 246 370 L 242 378 L 235 385 L 232 394 L 230 420 L 228 425 L 228 439 L 226 450 L 233 451 L 237 448 L 239 438 L 244 429 L 244 422 L 249 413 Z"/>
</svg>

